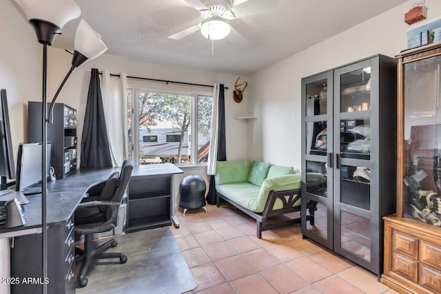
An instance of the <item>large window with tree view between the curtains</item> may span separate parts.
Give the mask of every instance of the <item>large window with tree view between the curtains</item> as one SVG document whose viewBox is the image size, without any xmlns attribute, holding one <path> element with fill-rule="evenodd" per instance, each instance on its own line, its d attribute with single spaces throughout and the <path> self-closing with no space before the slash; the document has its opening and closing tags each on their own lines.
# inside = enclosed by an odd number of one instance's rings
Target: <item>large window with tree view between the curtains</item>
<svg viewBox="0 0 441 294">
<path fill-rule="evenodd" d="M 206 162 L 212 101 L 209 91 L 128 87 L 130 159 L 139 165 L 158 162 L 197 165 Z"/>
</svg>

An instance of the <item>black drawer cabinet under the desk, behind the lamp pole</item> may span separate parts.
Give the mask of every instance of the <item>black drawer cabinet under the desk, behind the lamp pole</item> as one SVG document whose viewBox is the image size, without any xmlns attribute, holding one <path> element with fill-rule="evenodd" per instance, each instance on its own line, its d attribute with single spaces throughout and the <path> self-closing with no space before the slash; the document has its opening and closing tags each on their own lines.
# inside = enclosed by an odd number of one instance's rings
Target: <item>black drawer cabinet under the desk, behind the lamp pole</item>
<svg viewBox="0 0 441 294">
<path fill-rule="evenodd" d="M 19 283 L 11 285 L 12 294 L 42 293 L 45 282 L 50 294 L 75 293 L 74 217 L 50 224 L 48 240 L 48 280 L 44 281 L 41 233 L 14 238 L 10 274 Z"/>
</svg>

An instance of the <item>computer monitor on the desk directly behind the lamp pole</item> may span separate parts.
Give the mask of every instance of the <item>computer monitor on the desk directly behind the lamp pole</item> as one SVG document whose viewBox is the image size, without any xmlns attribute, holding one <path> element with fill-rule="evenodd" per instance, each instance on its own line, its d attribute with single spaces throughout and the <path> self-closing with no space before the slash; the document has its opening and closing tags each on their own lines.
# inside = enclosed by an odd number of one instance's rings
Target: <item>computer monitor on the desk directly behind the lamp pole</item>
<svg viewBox="0 0 441 294">
<path fill-rule="evenodd" d="M 47 171 L 46 177 L 50 176 L 50 147 L 46 150 Z M 26 191 L 41 182 L 41 143 L 21 143 L 17 158 L 17 181 L 15 190 L 26 195 Z M 39 191 L 38 188 L 40 188 Z M 37 187 L 35 193 L 41 193 L 41 187 Z M 34 193 L 30 192 L 30 193 Z"/>
</svg>

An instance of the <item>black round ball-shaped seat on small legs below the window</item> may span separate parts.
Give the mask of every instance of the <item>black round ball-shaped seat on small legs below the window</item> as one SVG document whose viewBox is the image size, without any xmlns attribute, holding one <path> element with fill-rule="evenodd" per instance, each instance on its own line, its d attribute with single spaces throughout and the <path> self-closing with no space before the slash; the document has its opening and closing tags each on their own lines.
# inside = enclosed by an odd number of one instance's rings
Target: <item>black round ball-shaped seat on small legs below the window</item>
<svg viewBox="0 0 441 294">
<path fill-rule="evenodd" d="M 192 175 L 186 176 L 179 184 L 179 207 L 184 209 L 184 214 L 187 209 L 198 209 L 203 207 L 205 213 L 208 213 L 205 207 L 205 181 L 200 176 Z"/>
</svg>

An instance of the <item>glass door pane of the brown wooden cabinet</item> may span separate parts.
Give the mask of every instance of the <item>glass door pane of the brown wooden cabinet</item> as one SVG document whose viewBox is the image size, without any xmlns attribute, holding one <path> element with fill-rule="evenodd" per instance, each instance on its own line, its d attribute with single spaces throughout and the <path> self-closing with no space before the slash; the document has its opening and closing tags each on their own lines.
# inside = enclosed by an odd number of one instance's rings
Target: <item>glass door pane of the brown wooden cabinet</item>
<svg viewBox="0 0 441 294">
<path fill-rule="evenodd" d="M 441 56 L 404 64 L 402 145 L 402 215 L 441 227 Z"/>
</svg>

